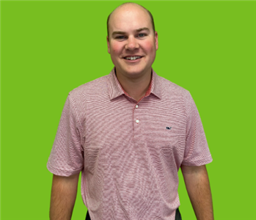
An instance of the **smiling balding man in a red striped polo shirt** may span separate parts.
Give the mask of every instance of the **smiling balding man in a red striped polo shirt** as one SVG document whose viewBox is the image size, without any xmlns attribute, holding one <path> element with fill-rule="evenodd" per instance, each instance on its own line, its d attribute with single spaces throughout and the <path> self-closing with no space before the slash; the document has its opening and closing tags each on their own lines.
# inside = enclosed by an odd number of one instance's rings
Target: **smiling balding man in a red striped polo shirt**
<svg viewBox="0 0 256 220">
<path fill-rule="evenodd" d="M 122 4 L 108 19 L 114 69 L 70 92 L 48 169 L 50 219 L 70 219 L 78 175 L 87 219 L 181 219 L 181 168 L 198 220 L 212 220 L 205 164 L 212 161 L 200 116 L 186 89 L 157 76 L 153 17 Z"/>
</svg>

